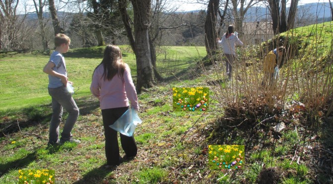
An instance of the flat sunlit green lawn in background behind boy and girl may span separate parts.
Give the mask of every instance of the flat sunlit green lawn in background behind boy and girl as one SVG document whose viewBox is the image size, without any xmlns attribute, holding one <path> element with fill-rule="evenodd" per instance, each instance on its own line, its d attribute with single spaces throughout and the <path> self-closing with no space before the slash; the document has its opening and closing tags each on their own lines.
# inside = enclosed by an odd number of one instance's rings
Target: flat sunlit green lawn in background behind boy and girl
<svg viewBox="0 0 333 184">
<path fill-rule="evenodd" d="M 132 76 L 136 76 L 135 55 L 129 46 L 120 46 L 123 60 L 131 68 Z M 182 63 L 192 63 L 198 59 L 196 49 L 204 55 L 204 47 L 172 47 L 170 53 L 177 54 Z M 95 67 L 103 58 L 103 47 L 70 49 L 64 54 L 68 79 L 74 83 L 74 98 L 90 94 L 91 76 Z M 43 72 L 49 55 L 31 53 L 0 53 L 0 114 L 6 110 L 19 109 L 39 104 L 50 104 L 48 94 L 48 75 Z M 157 58 L 157 65 L 163 63 L 162 56 Z M 173 59 L 171 59 L 173 60 Z M 185 69 L 185 64 L 175 72 Z M 169 77 L 171 74 L 164 75 Z"/>
</svg>

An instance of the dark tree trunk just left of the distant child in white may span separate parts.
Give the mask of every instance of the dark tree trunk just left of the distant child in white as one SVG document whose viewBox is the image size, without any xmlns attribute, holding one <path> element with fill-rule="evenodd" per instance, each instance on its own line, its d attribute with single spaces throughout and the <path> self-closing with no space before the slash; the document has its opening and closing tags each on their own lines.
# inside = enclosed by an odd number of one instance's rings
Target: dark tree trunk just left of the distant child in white
<svg viewBox="0 0 333 184">
<path fill-rule="evenodd" d="M 215 55 L 219 49 L 216 39 L 218 38 L 216 23 L 220 0 L 209 0 L 207 17 L 205 22 L 205 46 L 208 56 Z"/>
</svg>

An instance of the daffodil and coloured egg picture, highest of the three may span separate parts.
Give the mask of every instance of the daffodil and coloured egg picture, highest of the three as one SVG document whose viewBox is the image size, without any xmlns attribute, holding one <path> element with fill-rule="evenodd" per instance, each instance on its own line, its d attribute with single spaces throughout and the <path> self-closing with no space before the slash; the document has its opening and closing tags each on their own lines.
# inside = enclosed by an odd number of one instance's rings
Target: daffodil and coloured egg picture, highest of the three
<svg viewBox="0 0 333 184">
<path fill-rule="evenodd" d="M 173 110 L 206 111 L 209 101 L 209 88 L 172 88 Z"/>
</svg>

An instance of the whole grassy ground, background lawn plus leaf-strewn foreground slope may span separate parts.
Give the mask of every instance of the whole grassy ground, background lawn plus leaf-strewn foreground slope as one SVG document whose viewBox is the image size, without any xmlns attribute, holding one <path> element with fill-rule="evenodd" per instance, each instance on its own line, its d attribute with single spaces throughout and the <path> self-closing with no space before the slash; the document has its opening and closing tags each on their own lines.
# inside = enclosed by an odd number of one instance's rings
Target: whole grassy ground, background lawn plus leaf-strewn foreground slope
<svg viewBox="0 0 333 184">
<path fill-rule="evenodd" d="M 130 47 L 121 49 L 135 80 L 135 56 Z M 116 169 L 105 169 L 101 110 L 89 91 L 102 52 L 103 47 L 92 47 L 72 49 L 65 55 L 69 80 L 77 90 L 73 97 L 80 108 L 72 134 L 81 143 L 56 147 L 46 145 L 52 112 L 48 79 L 42 69 L 49 56 L 0 53 L 0 184 L 17 183 L 19 169 L 55 170 L 55 181 L 60 184 L 332 182 L 332 124 L 320 123 L 324 117 L 317 124 L 310 122 L 300 106 L 258 116 L 252 124 L 245 121 L 252 118 L 247 109 L 242 111 L 245 120 L 227 117 L 219 94 L 212 90 L 216 85 L 209 82 L 217 81 L 227 89 L 234 81 L 219 81 L 221 74 L 209 67 L 206 76 L 192 68 L 205 56 L 204 47 L 157 49 L 157 66 L 166 80 L 138 95 L 143 121 L 134 133 L 138 155 Z M 209 87 L 210 109 L 204 114 L 173 112 L 172 87 Z M 63 120 L 66 116 L 64 113 Z M 272 131 L 278 122 L 285 123 L 280 133 Z M 60 124 L 60 130 L 62 127 Z M 210 144 L 245 145 L 242 169 L 211 170 Z M 121 148 L 120 154 L 124 155 Z"/>
</svg>

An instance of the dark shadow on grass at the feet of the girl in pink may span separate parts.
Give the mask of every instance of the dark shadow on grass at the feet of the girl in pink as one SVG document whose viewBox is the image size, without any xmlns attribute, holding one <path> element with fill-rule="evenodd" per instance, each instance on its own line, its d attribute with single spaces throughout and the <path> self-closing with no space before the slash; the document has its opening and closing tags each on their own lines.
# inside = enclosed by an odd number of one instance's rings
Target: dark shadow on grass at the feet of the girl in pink
<svg viewBox="0 0 333 184">
<path fill-rule="evenodd" d="M 105 169 L 104 166 L 101 166 L 99 168 L 94 168 L 88 173 L 86 173 L 82 179 L 80 179 L 77 182 L 74 182 L 73 184 L 100 184 L 102 183 L 102 180 L 104 180 L 106 176 L 115 169 L 116 168 Z M 113 180 L 113 179 L 109 178 L 108 180 Z"/>
</svg>

